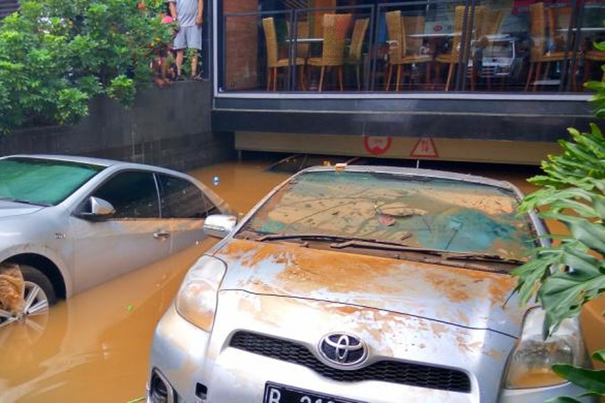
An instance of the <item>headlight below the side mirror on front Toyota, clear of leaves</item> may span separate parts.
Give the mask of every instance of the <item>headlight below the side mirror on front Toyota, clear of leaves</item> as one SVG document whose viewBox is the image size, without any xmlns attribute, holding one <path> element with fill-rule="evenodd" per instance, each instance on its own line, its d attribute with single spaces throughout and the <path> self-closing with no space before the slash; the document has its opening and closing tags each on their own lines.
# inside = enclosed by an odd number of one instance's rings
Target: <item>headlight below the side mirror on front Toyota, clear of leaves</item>
<svg viewBox="0 0 605 403">
<path fill-rule="evenodd" d="M 178 314 L 206 332 L 214 323 L 218 286 L 225 271 L 221 260 L 206 255 L 200 257 L 187 272 L 175 299 Z"/>
</svg>

